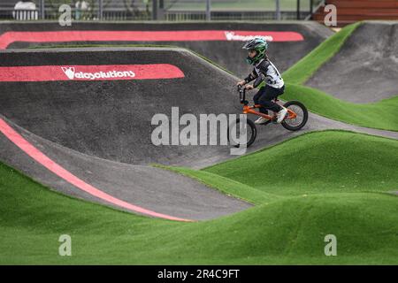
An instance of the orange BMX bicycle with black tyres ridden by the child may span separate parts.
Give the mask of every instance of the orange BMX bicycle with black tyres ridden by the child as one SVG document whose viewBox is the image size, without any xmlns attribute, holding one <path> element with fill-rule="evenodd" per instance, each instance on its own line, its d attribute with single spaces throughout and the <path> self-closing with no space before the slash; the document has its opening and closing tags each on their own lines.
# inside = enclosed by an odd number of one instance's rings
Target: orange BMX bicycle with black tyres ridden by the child
<svg viewBox="0 0 398 283">
<path fill-rule="evenodd" d="M 272 116 L 264 114 L 259 111 L 255 111 L 255 109 L 260 108 L 261 105 L 249 105 L 249 101 L 246 100 L 246 88 L 238 86 L 238 92 L 241 104 L 243 104 L 243 114 L 254 114 L 256 116 L 261 116 L 265 119 L 268 119 L 264 124 L 261 124 L 260 126 L 268 125 L 269 123 L 276 123 L 277 116 L 275 113 Z M 275 98 L 273 102 L 281 104 L 278 98 Z M 283 121 L 280 123 L 284 128 L 289 131 L 298 131 L 303 126 L 305 126 L 308 120 L 308 111 L 304 104 L 299 101 L 292 100 L 284 103 L 283 106 L 287 108 L 287 114 Z M 233 144 L 233 146 L 236 148 L 239 148 L 241 146 L 249 148 L 249 146 L 256 140 L 256 124 L 250 119 L 245 120 L 246 121 L 241 121 L 241 119 L 238 118 L 228 126 L 228 142 Z M 235 133 L 235 137 L 241 137 L 242 134 L 245 134 L 246 139 L 244 140 L 244 142 L 241 142 L 241 140 L 239 140 L 239 142 L 236 142 L 236 140 L 233 138 L 232 133 Z"/>
</svg>

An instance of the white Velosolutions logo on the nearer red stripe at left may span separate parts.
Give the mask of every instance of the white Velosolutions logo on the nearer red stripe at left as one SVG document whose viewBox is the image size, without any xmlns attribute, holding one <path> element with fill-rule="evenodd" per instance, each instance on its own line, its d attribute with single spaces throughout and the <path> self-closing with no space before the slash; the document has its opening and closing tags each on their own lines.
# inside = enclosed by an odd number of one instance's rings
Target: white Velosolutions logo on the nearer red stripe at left
<svg viewBox="0 0 398 283">
<path fill-rule="evenodd" d="M 134 78 L 135 73 L 133 71 L 99 71 L 96 73 L 82 72 L 76 70 L 75 67 L 61 67 L 69 80 L 103 80 L 103 79 L 128 79 Z"/>
</svg>

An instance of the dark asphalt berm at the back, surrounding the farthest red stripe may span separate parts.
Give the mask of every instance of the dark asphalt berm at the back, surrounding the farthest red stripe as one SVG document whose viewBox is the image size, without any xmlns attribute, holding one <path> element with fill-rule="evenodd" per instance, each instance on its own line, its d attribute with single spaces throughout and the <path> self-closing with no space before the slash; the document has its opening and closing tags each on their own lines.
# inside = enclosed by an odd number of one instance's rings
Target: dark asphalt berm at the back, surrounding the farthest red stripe
<svg viewBox="0 0 398 283">
<path fill-rule="evenodd" d="M 303 35 L 302 42 L 270 42 L 269 55 L 272 62 L 283 72 L 294 65 L 299 59 L 323 42 L 333 32 L 316 22 L 286 22 L 286 23 L 87 23 L 73 22 L 72 27 L 60 27 L 58 23 L 0 23 L 0 34 L 4 31 L 65 31 L 65 30 L 254 30 L 254 31 L 292 31 Z M 242 42 L 59 42 L 67 44 L 109 43 L 109 44 L 165 44 L 193 50 L 210 58 L 226 70 L 246 77 L 251 68 L 245 62 L 247 54 L 241 50 Z M 10 49 L 26 48 L 54 43 L 14 42 Z"/>
</svg>

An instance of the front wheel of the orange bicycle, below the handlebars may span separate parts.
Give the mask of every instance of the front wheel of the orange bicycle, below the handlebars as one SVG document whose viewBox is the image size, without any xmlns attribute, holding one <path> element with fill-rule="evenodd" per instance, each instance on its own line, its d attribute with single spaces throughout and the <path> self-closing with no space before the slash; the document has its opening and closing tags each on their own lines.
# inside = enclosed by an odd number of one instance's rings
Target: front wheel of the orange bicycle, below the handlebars
<svg viewBox="0 0 398 283">
<path fill-rule="evenodd" d="M 235 148 L 249 148 L 255 142 L 257 135 L 256 125 L 249 119 L 236 119 L 228 126 L 228 142 Z"/>
</svg>

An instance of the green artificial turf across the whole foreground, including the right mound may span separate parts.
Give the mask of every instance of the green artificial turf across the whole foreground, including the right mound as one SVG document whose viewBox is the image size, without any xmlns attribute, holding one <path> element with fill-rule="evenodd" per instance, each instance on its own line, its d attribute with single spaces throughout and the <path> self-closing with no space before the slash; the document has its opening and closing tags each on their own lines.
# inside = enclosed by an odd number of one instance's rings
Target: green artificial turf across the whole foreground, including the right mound
<svg viewBox="0 0 398 283">
<path fill-rule="evenodd" d="M 197 223 L 76 200 L 0 164 L 0 264 L 398 264 L 398 199 L 379 193 L 396 188 L 397 143 L 305 134 L 199 171 L 196 179 L 258 205 Z M 279 180 L 283 172 L 291 179 Z M 58 255 L 61 234 L 71 235 L 72 256 Z M 327 234 L 337 256 L 324 254 Z"/>
</svg>

